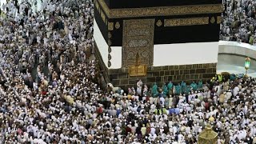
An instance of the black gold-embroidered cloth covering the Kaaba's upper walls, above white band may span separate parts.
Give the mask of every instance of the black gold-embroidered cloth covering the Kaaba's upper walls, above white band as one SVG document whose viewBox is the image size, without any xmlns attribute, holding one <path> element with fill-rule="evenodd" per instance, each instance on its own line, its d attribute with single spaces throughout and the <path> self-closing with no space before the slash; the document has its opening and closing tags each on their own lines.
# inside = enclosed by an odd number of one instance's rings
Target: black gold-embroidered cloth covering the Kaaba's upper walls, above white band
<svg viewBox="0 0 256 144">
<path fill-rule="evenodd" d="M 95 19 L 109 46 L 122 46 L 123 22 L 138 19 L 154 19 L 154 44 L 218 42 L 222 1 L 120 2 L 94 1 Z"/>
</svg>

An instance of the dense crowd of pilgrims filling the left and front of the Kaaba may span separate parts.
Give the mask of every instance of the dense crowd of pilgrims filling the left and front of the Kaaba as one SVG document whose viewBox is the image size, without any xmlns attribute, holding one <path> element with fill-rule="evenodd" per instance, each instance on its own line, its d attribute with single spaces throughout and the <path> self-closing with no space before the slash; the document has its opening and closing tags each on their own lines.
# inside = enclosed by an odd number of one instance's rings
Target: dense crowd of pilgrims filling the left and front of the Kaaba
<svg viewBox="0 0 256 144">
<path fill-rule="evenodd" d="M 92 0 L 43 0 L 42 11 L 32 9 L 37 2 L 1 7 L 0 143 L 190 144 L 207 124 L 218 144 L 256 143 L 255 78 L 104 90 L 90 58 Z M 242 14 L 252 13 L 248 2 Z"/>
</svg>

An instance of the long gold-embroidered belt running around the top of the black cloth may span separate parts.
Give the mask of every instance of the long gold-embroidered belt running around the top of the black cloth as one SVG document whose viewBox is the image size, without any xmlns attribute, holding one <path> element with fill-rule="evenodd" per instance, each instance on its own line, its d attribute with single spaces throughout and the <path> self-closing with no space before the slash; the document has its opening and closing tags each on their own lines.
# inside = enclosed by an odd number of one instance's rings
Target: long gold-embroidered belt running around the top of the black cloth
<svg viewBox="0 0 256 144">
<path fill-rule="evenodd" d="M 186 14 L 213 14 L 222 13 L 222 4 L 193 5 L 193 6 L 161 6 L 138 9 L 110 9 L 102 0 L 95 0 L 102 6 L 108 18 L 138 18 L 146 16 L 170 16 Z"/>
</svg>

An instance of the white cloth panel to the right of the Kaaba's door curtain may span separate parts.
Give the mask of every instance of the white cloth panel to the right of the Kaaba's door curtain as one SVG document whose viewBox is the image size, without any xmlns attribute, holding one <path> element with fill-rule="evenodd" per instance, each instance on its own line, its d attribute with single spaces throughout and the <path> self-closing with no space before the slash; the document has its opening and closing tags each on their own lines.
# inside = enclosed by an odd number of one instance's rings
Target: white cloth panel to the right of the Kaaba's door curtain
<svg viewBox="0 0 256 144">
<path fill-rule="evenodd" d="M 218 42 L 154 45 L 154 66 L 215 63 Z"/>
</svg>

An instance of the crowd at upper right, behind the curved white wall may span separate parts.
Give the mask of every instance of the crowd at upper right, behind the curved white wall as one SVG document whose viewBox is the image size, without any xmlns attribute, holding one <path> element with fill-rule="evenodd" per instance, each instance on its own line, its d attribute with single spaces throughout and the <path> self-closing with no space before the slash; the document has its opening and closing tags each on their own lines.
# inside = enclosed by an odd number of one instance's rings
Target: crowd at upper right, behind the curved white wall
<svg viewBox="0 0 256 144">
<path fill-rule="evenodd" d="M 256 44 L 256 2 L 223 0 L 220 40 Z"/>
</svg>

